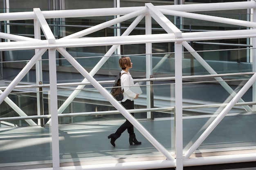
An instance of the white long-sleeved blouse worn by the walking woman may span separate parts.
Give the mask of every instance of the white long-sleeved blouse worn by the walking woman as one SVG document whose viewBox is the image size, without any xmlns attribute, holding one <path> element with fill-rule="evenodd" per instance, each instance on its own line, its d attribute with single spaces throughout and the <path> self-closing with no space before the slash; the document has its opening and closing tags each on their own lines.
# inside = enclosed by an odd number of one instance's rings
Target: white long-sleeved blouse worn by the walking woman
<svg viewBox="0 0 256 170">
<path fill-rule="evenodd" d="M 124 70 L 121 71 L 122 73 L 126 73 Z M 122 102 L 126 101 L 127 99 L 133 101 L 134 98 L 136 97 L 136 94 L 130 90 L 129 86 L 134 85 L 132 76 L 130 75 L 130 72 L 127 74 L 123 74 L 120 78 L 121 80 L 121 88 L 124 89 L 124 98 Z"/>
</svg>

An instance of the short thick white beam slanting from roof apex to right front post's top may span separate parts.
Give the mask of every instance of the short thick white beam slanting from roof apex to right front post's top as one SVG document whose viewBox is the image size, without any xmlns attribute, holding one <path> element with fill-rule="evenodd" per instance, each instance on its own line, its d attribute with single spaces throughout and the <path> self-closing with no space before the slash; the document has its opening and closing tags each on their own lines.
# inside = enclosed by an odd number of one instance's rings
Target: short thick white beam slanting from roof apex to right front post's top
<svg viewBox="0 0 256 170">
<path fill-rule="evenodd" d="M 175 38 L 181 38 L 182 32 L 178 29 L 164 14 L 162 14 L 159 9 L 154 7 L 151 3 L 146 3 L 146 7 L 148 7 L 150 11 L 150 16 L 154 18 L 154 20 L 167 32 L 174 33 Z"/>
</svg>

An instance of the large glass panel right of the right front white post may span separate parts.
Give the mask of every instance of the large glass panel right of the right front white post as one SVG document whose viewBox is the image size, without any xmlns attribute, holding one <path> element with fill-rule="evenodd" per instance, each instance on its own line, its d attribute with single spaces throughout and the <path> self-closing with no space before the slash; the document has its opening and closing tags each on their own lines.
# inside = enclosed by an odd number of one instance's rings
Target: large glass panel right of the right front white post
<svg viewBox="0 0 256 170">
<path fill-rule="evenodd" d="M 209 58 L 211 58 L 210 56 L 219 57 L 220 54 L 225 54 L 226 57 L 230 56 L 236 58 L 241 56 L 241 54 L 248 55 L 249 49 L 198 51 L 198 54 Z M 184 54 L 184 60 L 186 60 L 186 58 L 189 58 L 189 53 Z M 217 73 L 234 73 L 235 75 L 216 78 L 190 77 L 189 79 L 183 79 L 184 152 L 198 140 L 217 116 L 225 113 L 223 110 L 227 103 L 233 99 L 252 76 L 250 73 L 245 75 L 236 74 L 252 72 L 252 65 L 250 63 L 209 59 L 205 59 L 205 61 L 209 64 L 208 66 L 204 66 L 206 69 L 211 67 Z M 209 74 L 208 72 L 198 72 L 198 66 L 200 64 L 197 62 L 197 60 L 193 60 L 194 67 L 192 68 L 194 74 Z M 251 134 L 255 133 L 255 130 L 252 130 L 255 125 L 252 123 L 251 119 L 254 119 L 256 114 L 252 110 L 252 103 L 248 105 L 242 104 L 244 102 L 252 102 L 252 87 L 242 96 L 237 105 L 227 112 L 227 115 L 202 142 L 199 148 L 197 148 L 194 152 L 195 154 L 256 148 L 255 137 L 249 137 Z"/>
</svg>

